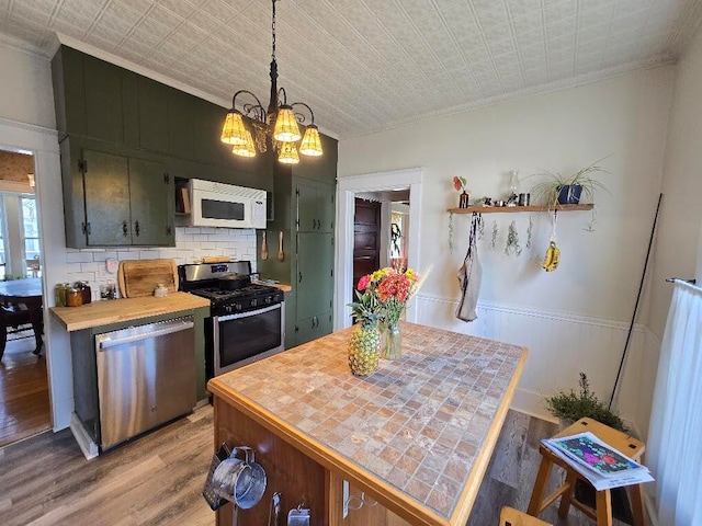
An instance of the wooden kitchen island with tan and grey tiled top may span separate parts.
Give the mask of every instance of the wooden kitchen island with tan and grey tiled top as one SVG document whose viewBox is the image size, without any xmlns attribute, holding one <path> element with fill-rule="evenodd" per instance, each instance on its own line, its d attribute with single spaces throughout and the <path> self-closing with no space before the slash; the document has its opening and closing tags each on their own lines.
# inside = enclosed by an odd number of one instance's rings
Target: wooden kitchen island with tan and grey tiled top
<svg viewBox="0 0 702 526">
<path fill-rule="evenodd" d="M 214 447 L 253 447 L 268 476 L 239 524 L 267 524 L 279 491 L 313 525 L 464 525 L 528 351 L 401 323 L 403 357 L 356 378 L 350 331 L 210 380 Z M 230 524 L 230 504 L 217 519 Z"/>
</svg>

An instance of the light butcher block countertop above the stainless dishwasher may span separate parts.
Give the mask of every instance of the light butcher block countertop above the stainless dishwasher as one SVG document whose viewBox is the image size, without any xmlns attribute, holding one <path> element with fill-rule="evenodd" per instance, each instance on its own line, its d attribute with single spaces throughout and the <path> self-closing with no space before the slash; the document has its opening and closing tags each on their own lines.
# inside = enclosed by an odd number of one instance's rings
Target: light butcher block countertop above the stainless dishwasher
<svg viewBox="0 0 702 526">
<path fill-rule="evenodd" d="M 110 299 L 81 307 L 52 307 L 50 310 L 71 332 L 202 307 L 210 307 L 210 301 L 188 293 L 171 293 L 163 298 Z"/>
</svg>

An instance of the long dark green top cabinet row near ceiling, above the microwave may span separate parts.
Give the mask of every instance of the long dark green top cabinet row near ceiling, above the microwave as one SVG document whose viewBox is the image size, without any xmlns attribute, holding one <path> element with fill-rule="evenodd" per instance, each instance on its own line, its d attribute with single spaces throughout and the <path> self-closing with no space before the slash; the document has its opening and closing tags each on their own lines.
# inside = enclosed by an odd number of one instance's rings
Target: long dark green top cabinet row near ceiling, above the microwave
<svg viewBox="0 0 702 526">
<path fill-rule="evenodd" d="M 59 140 L 158 153 L 179 178 L 273 190 L 271 152 L 241 158 L 219 140 L 225 107 L 66 46 L 52 76 Z"/>
</svg>

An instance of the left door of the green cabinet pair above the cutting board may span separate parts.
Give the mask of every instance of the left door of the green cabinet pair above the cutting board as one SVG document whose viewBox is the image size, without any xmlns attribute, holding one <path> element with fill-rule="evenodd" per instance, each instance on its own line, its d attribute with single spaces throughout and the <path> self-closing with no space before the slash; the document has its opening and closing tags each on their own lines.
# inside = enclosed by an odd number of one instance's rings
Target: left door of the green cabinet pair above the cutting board
<svg viewBox="0 0 702 526">
<path fill-rule="evenodd" d="M 131 244 L 127 158 L 83 150 L 82 160 L 88 245 Z"/>
</svg>

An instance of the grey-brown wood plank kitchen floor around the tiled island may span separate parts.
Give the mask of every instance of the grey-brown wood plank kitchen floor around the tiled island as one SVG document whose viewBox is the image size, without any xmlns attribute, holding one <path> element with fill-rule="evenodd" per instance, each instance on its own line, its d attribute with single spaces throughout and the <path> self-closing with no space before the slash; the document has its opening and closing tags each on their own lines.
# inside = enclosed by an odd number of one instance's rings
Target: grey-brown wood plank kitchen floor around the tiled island
<svg viewBox="0 0 702 526">
<path fill-rule="evenodd" d="M 497 525 L 503 505 L 526 508 L 539 439 L 554 432 L 553 424 L 509 412 L 468 526 Z M 0 524 L 214 525 L 201 496 L 212 441 L 206 405 L 93 460 L 83 458 L 68 430 L 0 448 Z M 552 505 L 540 518 L 558 526 L 593 524 L 580 512 L 558 519 L 556 511 Z"/>
</svg>

